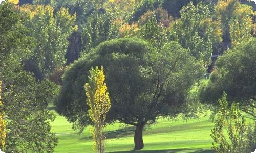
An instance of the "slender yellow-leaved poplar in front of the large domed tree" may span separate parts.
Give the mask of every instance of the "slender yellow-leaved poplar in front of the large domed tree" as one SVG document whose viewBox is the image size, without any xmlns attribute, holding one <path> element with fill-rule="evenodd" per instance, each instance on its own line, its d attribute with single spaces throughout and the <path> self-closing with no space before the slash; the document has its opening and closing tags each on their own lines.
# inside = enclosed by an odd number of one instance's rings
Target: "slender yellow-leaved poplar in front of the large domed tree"
<svg viewBox="0 0 256 153">
<path fill-rule="evenodd" d="M 84 85 L 87 96 L 87 104 L 89 105 L 89 116 L 94 125 L 91 129 L 95 152 L 104 152 L 105 136 L 103 129 L 106 126 L 106 114 L 109 112 L 111 103 L 108 88 L 106 87 L 104 69 L 92 68 L 90 70 L 89 82 Z"/>
</svg>

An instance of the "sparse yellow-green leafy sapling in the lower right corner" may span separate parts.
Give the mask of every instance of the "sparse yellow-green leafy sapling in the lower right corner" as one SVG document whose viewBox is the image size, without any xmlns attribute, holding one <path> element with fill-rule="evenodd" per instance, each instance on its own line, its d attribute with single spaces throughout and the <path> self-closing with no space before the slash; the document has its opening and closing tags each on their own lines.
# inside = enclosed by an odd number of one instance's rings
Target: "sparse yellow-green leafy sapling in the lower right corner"
<svg viewBox="0 0 256 153">
<path fill-rule="evenodd" d="M 251 127 L 248 129 L 245 119 L 238 109 L 239 105 L 233 103 L 229 108 L 225 93 L 218 102 L 218 112 L 214 121 L 215 128 L 212 129 L 211 134 L 214 139 L 212 149 L 217 153 L 253 152 L 256 145 L 255 137 L 253 138 Z M 228 137 L 225 136 L 225 132 L 228 133 Z"/>
</svg>

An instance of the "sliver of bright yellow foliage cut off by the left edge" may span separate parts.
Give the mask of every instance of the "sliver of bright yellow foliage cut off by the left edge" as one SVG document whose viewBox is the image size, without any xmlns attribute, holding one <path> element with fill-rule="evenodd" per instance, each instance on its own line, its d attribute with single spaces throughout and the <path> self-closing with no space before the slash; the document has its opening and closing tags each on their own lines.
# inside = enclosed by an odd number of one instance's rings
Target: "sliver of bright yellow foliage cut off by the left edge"
<svg viewBox="0 0 256 153">
<path fill-rule="evenodd" d="M 2 93 L 2 82 L 0 81 L 0 149 L 3 150 L 5 147 L 5 121 L 3 119 L 3 110 L 2 110 L 2 101 L 1 101 L 1 93 Z"/>
</svg>

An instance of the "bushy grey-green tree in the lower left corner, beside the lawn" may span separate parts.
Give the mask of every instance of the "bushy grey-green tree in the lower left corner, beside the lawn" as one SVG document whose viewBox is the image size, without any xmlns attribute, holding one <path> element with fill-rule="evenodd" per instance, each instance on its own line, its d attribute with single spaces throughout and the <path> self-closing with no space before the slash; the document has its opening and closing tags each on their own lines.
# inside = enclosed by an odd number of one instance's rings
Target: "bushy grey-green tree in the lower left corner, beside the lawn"
<svg viewBox="0 0 256 153">
<path fill-rule="evenodd" d="M 53 152 L 57 144 L 51 133 L 50 121 L 54 115 L 48 110 L 48 102 L 54 97 L 53 83 L 36 82 L 24 71 L 4 86 L 4 112 L 7 120 L 5 152 Z M 17 113 L 18 112 L 18 113 Z"/>
</svg>

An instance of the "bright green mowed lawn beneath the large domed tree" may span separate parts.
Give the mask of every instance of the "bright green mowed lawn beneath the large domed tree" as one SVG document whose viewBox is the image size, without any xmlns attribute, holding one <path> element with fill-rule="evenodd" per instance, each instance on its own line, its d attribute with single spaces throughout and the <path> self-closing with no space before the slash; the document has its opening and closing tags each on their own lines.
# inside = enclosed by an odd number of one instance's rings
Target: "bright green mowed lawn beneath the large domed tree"
<svg viewBox="0 0 256 153">
<path fill-rule="evenodd" d="M 55 152 L 92 152 L 89 127 L 78 135 L 72 130 L 72 124 L 59 115 L 51 124 L 59 141 Z M 143 132 L 144 149 L 133 151 L 135 128 L 115 123 L 105 129 L 105 152 L 212 152 L 210 133 L 213 126 L 208 116 L 187 121 L 158 119 Z"/>
</svg>

